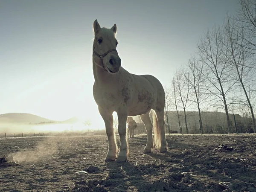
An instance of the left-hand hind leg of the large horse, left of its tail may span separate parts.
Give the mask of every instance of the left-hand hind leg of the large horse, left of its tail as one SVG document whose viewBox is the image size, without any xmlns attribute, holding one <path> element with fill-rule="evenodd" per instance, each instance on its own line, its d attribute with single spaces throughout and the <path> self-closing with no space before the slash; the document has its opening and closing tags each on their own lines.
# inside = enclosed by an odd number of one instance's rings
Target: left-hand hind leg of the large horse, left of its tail
<svg viewBox="0 0 256 192">
<path fill-rule="evenodd" d="M 140 115 L 140 119 L 145 125 L 145 129 L 147 131 L 147 145 L 145 146 L 143 153 L 151 153 L 151 150 L 153 148 L 152 123 L 149 118 L 149 112 L 150 111 L 143 115 Z"/>
</svg>

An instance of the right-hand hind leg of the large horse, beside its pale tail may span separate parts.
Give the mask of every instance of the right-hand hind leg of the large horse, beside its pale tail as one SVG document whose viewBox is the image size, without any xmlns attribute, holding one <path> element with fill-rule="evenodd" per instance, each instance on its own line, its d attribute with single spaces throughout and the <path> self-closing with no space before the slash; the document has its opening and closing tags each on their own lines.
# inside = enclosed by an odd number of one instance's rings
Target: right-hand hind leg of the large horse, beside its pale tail
<svg viewBox="0 0 256 192">
<path fill-rule="evenodd" d="M 164 110 L 154 110 L 155 115 L 157 116 L 157 129 L 159 131 L 155 131 L 155 136 L 158 137 L 158 140 L 160 140 L 160 152 L 166 152 L 168 151 L 168 144 L 166 141 L 166 134 L 165 134 L 165 122 L 164 122 Z"/>
</svg>

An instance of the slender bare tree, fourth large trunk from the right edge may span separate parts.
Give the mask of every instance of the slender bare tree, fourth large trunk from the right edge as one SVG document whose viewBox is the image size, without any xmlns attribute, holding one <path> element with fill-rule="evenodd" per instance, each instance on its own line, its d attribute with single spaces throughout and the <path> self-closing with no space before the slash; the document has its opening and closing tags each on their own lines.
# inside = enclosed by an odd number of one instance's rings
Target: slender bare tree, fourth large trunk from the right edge
<svg viewBox="0 0 256 192">
<path fill-rule="evenodd" d="M 186 109 L 189 107 L 189 82 L 186 78 L 184 78 L 183 73 L 181 70 L 177 71 L 174 75 L 176 79 L 176 91 L 178 94 L 178 100 L 180 100 L 181 108 L 184 111 L 184 119 L 185 119 L 185 126 L 186 126 L 186 134 L 189 133 L 188 125 L 187 125 L 187 116 L 186 116 Z"/>
</svg>

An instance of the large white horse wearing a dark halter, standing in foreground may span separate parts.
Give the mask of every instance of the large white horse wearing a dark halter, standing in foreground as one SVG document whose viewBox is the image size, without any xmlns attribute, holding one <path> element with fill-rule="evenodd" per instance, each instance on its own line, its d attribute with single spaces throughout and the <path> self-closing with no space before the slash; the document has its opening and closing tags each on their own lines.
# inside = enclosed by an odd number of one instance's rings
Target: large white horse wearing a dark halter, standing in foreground
<svg viewBox="0 0 256 192">
<path fill-rule="evenodd" d="M 154 145 L 160 152 L 166 152 L 167 142 L 164 128 L 165 93 L 162 84 L 151 75 L 134 75 L 121 67 L 116 50 L 116 24 L 111 29 L 101 28 L 93 23 L 93 97 L 98 105 L 108 136 L 108 154 L 105 161 L 116 159 L 118 147 L 113 131 L 113 111 L 118 117 L 120 149 L 117 162 L 125 162 L 128 155 L 126 141 L 127 116 L 140 115 L 147 131 L 144 153 L 153 148 L 152 124 L 149 112 L 154 110 Z"/>
</svg>

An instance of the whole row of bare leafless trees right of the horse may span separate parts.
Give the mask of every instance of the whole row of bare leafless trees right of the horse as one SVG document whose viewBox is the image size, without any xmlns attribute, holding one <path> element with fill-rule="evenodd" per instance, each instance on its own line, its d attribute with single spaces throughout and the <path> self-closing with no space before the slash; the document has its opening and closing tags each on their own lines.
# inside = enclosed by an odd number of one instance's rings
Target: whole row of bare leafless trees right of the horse
<svg viewBox="0 0 256 192">
<path fill-rule="evenodd" d="M 224 111 L 227 132 L 232 132 L 230 113 L 249 109 L 256 133 L 256 0 L 240 0 L 237 15 L 227 14 L 221 26 L 214 26 L 197 43 L 197 52 L 188 63 L 175 71 L 171 86 L 166 88 L 166 121 L 168 111 L 176 111 L 185 119 L 187 111 L 196 109 L 201 133 L 201 112 L 211 108 Z M 181 113 L 182 112 L 182 113 Z"/>
</svg>

